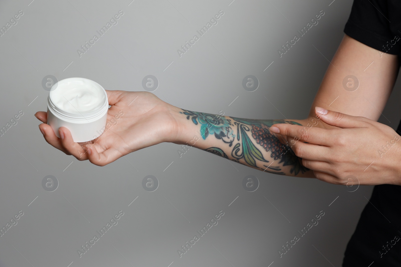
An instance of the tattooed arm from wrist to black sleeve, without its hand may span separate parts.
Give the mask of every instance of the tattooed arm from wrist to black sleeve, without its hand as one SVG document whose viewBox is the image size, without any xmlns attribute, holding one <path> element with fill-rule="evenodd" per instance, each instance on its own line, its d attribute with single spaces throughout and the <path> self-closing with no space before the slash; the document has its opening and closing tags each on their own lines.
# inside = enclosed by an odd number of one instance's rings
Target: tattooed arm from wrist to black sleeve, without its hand
<svg viewBox="0 0 401 267">
<path fill-rule="evenodd" d="M 264 171 L 271 173 L 314 177 L 311 171 L 300 164 L 297 157 L 300 156 L 300 151 L 293 151 L 296 142 L 273 135 L 268 128 L 275 123 L 300 124 L 304 126 L 296 127 L 300 138 L 308 136 L 312 127 L 338 128 L 320 120 L 316 116 L 315 106 L 378 120 L 394 86 L 397 70 L 397 56 L 384 54 L 345 35 L 324 75 L 309 118 L 252 120 L 180 110 L 178 112 L 182 117 L 190 122 L 188 124 L 182 118 L 177 118 L 180 119 L 180 125 L 185 126 L 181 137 L 185 142 L 182 144 L 188 142 L 256 169 L 269 166 Z M 348 75 L 353 75 L 356 79 L 348 80 Z M 210 126 L 207 125 L 208 122 Z M 203 132 L 206 134 L 203 135 Z M 319 153 L 313 148 L 311 150 Z M 325 160 L 322 155 L 317 156 L 322 161 Z"/>
</svg>

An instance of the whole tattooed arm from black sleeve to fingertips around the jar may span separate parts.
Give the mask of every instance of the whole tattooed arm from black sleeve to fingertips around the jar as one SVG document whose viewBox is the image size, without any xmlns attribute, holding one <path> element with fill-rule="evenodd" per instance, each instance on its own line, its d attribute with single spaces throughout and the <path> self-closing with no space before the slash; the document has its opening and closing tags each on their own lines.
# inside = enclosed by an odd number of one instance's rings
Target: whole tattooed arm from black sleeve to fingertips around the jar
<svg viewBox="0 0 401 267">
<path fill-rule="evenodd" d="M 182 153 L 186 145 L 191 145 L 261 171 L 314 177 L 292 150 L 293 142 L 272 134 L 268 128 L 275 123 L 300 124 L 305 135 L 310 128 L 337 128 L 316 117 L 315 105 L 377 120 L 391 93 L 396 70 L 396 56 L 379 53 L 345 36 L 324 76 L 310 116 L 304 120 L 255 120 L 207 114 L 172 106 L 149 92 L 107 91 L 111 105 L 107 122 L 118 112 L 124 115 L 115 126 L 112 123 L 111 128 L 106 128 L 101 137 L 86 144 L 74 143 L 64 127 L 60 128 L 62 139 L 57 138 L 46 124 L 46 112 L 37 112 L 35 116 L 44 122 L 39 128 L 48 143 L 99 166 L 144 147 L 172 142 L 184 145 Z M 342 86 L 344 77 L 350 74 L 360 83 L 353 92 Z"/>
</svg>

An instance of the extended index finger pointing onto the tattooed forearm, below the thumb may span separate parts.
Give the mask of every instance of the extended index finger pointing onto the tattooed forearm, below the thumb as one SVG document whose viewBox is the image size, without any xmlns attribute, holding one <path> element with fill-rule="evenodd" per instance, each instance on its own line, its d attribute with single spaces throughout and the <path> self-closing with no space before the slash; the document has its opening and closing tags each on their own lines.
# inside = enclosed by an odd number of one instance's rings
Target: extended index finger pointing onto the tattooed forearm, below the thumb
<svg viewBox="0 0 401 267">
<path fill-rule="evenodd" d="M 288 123 L 273 124 L 269 130 L 271 132 L 295 138 L 303 142 L 313 143 L 317 145 L 330 145 L 330 130 L 322 128 L 309 128 L 302 125 L 294 125 Z"/>
</svg>

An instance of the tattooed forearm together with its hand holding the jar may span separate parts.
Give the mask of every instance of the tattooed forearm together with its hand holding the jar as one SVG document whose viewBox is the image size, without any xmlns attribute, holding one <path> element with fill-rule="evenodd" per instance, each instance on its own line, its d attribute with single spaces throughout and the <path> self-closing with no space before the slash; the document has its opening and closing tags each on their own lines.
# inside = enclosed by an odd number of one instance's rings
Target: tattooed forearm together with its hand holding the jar
<svg viewBox="0 0 401 267">
<path fill-rule="evenodd" d="M 139 149 L 162 142 L 182 145 L 181 157 L 197 147 L 228 160 L 279 175 L 313 177 L 292 151 L 291 143 L 269 132 L 275 123 L 302 125 L 306 120 L 255 120 L 196 112 L 172 106 L 150 92 L 106 90 L 109 104 L 106 129 L 90 142 L 75 143 L 65 127 L 57 138 L 46 124 L 47 113 L 36 112 L 45 140 L 79 160 L 104 166 Z M 135 102 L 134 102 L 135 101 Z M 318 120 L 313 120 L 318 125 Z"/>
</svg>

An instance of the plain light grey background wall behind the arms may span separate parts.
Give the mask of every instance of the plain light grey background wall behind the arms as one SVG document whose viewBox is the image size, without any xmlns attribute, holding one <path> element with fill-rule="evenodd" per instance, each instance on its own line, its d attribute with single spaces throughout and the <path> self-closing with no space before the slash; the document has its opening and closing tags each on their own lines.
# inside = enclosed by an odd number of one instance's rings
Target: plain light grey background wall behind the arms
<svg viewBox="0 0 401 267">
<path fill-rule="evenodd" d="M 306 118 L 352 1 L 231 1 L 0 2 L 0 26 L 24 12 L 0 36 L 0 125 L 24 112 L 0 137 L 0 226 L 24 212 L 0 237 L 1 267 L 341 265 L 373 187 L 351 193 L 355 187 L 263 173 L 195 148 L 180 158 L 181 147 L 171 143 L 97 167 L 54 149 L 38 130 L 33 114 L 46 110 L 46 75 L 142 91 L 142 78 L 151 74 L 160 83 L 154 94 L 182 108 Z M 77 49 L 119 10 L 118 24 L 79 57 Z M 219 10 L 218 24 L 179 57 L 177 49 Z M 318 25 L 280 58 L 277 50 L 320 10 Z M 259 79 L 255 92 L 242 88 L 249 74 Z M 400 117 L 397 88 L 383 112 L 390 122 L 380 120 L 393 128 Z M 47 175 L 57 177 L 57 190 L 42 188 Z M 146 175 L 157 177 L 156 191 L 142 188 Z M 255 192 L 242 188 L 247 175 L 259 179 Z M 119 210 L 118 224 L 80 258 L 77 249 Z M 218 225 L 180 258 L 177 250 L 221 210 Z M 279 249 L 320 211 L 318 225 L 280 258 Z"/>
</svg>

